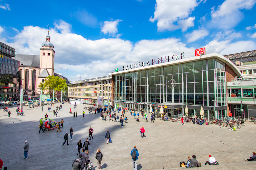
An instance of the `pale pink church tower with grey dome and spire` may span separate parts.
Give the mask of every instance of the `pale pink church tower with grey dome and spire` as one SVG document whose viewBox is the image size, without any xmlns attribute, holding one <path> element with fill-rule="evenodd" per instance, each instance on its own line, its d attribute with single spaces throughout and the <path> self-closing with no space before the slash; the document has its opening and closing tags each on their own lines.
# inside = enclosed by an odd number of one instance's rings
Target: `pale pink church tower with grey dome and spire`
<svg viewBox="0 0 256 170">
<path fill-rule="evenodd" d="M 49 75 L 54 75 L 54 46 L 51 42 L 51 37 L 46 36 L 46 42 L 42 43 L 42 48 L 40 49 L 40 74 L 46 69 Z"/>
</svg>

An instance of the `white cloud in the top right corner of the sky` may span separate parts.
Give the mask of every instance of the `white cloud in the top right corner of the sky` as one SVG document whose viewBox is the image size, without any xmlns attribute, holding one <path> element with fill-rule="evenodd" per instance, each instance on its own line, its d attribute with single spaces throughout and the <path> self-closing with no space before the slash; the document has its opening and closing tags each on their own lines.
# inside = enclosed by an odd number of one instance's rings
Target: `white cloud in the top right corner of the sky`
<svg viewBox="0 0 256 170">
<path fill-rule="evenodd" d="M 211 8 L 212 26 L 224 29 L 235 27 L 244 18 L 240 10 L 250 10 L 255 3 L 256 0 L 225 0 L 216 10 Z"/>
</svg>

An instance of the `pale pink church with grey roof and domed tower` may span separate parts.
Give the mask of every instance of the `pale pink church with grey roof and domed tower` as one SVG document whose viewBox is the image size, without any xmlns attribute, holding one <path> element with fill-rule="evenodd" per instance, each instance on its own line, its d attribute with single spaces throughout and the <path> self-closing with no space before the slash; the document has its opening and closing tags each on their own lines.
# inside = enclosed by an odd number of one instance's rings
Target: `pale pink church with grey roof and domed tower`
<svg viewBox="0 0 256 170">
<path fill-rule="evenodd" d="M 55 51 L 53 49 L 54 45 L 50 40 L 51 37 L 48 31 L 46 41 L 42 43 L 42 48 L 40 48 L 40 55 L 16 55 L 16 59 L 20 61 L 19 87 L 23 85 L 25 100 L 34 100 L 40 97 L 41 90 L 38 86 L 40 83 L 44 83 L 45 78 L 48 76 L 59 76 L 69 83 L 66 77 L 54 73 Z M 46 97 L 49 97 L 49 95 L 43 96 L 43 98 Z"/>
</svg>

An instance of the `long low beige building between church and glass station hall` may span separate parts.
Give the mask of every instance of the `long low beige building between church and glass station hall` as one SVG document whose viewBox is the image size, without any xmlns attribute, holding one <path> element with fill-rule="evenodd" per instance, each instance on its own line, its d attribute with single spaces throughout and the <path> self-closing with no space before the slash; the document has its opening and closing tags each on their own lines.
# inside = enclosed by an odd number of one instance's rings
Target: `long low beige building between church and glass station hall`
<svg viewBox="0 0 256 170">
<path fill-rule="evenodd" d="M 85 104 L 98 106 L 102 98 L 102 106 L 111 106 L 111 76 L 97 77 L 74 82 L 68 85 L 68 98 L 82 101 Z"/>
</svg>

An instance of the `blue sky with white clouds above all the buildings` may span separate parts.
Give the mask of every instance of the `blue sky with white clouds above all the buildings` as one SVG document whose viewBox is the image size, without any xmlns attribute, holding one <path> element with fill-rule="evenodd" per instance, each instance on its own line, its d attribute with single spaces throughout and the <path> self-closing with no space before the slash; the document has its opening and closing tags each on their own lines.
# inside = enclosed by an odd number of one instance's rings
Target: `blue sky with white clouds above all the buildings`
<svg viewBox="0 0 256 170">
<path fill-rule="evenodd" d="M 55 72 L 70 81 L 205 47 L 222 55 L 256 49 L 256 0 L 0 0 L 0 42 L 40 54 L 48 24 Z"/>
</svg>

